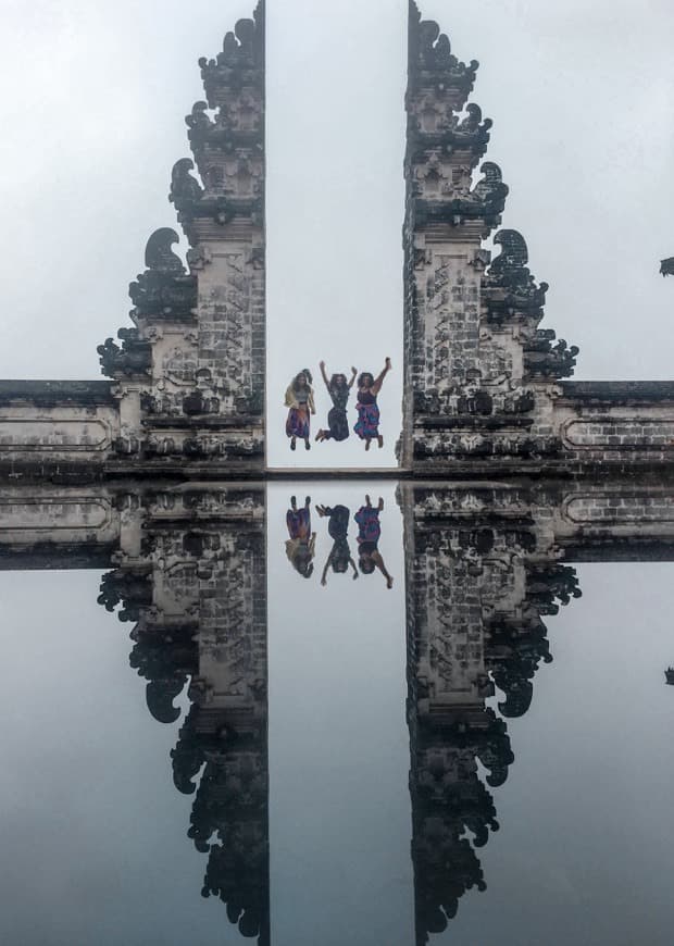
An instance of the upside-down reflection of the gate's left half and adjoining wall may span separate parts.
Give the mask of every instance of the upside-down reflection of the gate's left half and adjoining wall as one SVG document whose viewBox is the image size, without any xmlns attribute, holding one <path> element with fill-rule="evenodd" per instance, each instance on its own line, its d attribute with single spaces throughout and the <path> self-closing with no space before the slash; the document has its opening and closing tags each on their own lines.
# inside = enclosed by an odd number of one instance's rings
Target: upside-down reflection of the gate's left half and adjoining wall
<svg viewBox="0 0 674 946">
<path fill-rule="evenodd" d="M 265 490 L 11 485 L 0 569 L 96 568 L 99 603 L 132 626 L 148 709 L 174 723 L 176 788 L 207 855 L 202 894 L 260 946 L 269 937 Z"/>
</svg>

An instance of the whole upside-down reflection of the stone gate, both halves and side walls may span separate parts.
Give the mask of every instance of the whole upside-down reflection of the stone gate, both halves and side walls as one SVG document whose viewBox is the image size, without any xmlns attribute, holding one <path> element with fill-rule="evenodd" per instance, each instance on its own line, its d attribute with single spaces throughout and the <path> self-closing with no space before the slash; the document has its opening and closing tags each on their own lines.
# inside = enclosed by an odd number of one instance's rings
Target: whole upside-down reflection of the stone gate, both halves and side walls
<svg viewBox="0 0 674 946">
<path fill-rule="evenodd" d="M 586 477 L 405 481 L 398 498 L 416 933 L 426 942 L 466 889 L 484 889 L 478 849 L 498 826 L 490 789 L 515 760 L 507 725 L 527 712 L 551 659 L 547 617 L 581 594 L 570 563 L 674 560 L 674 494 Z M 25 483 L 4 489 L 0 513 L 0 569 L 109 570 L 98 600 L 134 625 L 129 662 L 159 722 L 177 721 L 187 690 L 171 758 L 176 788 L 195 795 L 188 835 L 204 855 L 202 893 L 264 946 L 265 487 Z M 495 685 L 498 714 L 486 705 Z"/>
</svg>

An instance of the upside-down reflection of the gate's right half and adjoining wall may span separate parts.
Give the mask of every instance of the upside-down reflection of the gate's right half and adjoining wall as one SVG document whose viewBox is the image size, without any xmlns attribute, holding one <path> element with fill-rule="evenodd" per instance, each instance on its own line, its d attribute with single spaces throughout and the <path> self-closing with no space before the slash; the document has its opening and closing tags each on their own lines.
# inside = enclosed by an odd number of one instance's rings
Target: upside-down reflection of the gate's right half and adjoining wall
<svg viewBox="0 0 674 946">
<path fill-rule="evenodd" d="M 486 886 L 478 849 L 499 826 L 489 788 L 514 761 L 507 723 L 528 710 L 536 672 L 552 660 L 545 620 L 581 595 L 569 563 L 671 560 L 674 497 L 637 478 L 425 481 L 403 483 L 400 505 L 422 946 L 465 891 Z M 485 704 L 495 686 L 500 715 Z"/>
</svg>

